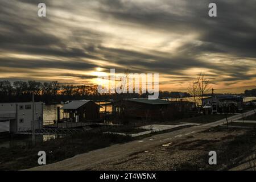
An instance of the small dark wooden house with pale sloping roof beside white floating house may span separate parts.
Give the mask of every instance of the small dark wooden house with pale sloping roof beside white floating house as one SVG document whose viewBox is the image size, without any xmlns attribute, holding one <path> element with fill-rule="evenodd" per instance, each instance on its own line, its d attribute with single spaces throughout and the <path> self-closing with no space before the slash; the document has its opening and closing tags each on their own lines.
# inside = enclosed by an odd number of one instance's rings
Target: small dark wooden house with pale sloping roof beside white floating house
<svg viewBox="0 0 256 182">
<path fill-rule="evenodd" d="M 67 115 L 66 118 L 71 122 L 97 121 L 100 119 L 100 105 L 93 101 L 72 101 L 60 109 L 63 110 L 64 116 Z"/>
</svg>

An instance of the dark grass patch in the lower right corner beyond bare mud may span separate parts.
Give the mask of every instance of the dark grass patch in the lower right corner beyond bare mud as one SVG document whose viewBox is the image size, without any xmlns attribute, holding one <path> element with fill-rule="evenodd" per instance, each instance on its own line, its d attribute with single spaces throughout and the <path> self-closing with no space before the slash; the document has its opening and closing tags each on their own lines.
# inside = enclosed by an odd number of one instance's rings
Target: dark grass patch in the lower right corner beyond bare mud
<svg viewBox="0 0 256 182">
<path fill-rule="evenodd" d="M 233 131 L 244 130 L 244 129 L 226 129 L 222 127 L 213 127 L 202 133 L 218 133 L 226 132 L 232 133 Z M 256 129 L 246 129 L 245 133 L 237 136 L 226 136 L 217 140 L 204 140 L 199 139 L 187 143 L 182 143 L 184 146 L 183 150 L 199 150 L 203 151 L 203 154 L 197 156 L 199 159 L 196 163 L 183 163 L 176 168 L 177 170 L 228 170 L 236 167 L 244 160 L 247 156 L 254 152 L 256 146 Z M 189 148 L 187 147 L 189 145 Z M 182 148 L 181 148 L 182 150 Z M 217 165 L 208 164 L 208 152 L 214 150 L 217 152 Z"/>
</svg>

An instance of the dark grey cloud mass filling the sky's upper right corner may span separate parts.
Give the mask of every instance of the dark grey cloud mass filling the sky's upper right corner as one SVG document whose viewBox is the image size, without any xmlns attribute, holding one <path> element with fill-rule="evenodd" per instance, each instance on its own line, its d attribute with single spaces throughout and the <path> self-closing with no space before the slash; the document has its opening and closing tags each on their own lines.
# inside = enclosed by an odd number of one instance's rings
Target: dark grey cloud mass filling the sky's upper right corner
<svg viewBox="0 0 256 182">
<path fill-rule="evenodd" d="M 205 44 L 197 47 L 197 51 L 220 51 L 238 56 L 256 56 L 256 11 L 255 1 L 218 1 L 218 18 L 208 16 L 207 1 L 161 1 L 156 6 L 147 8 L 139 6 L 134 1 L 102 0 L 101 10 L 114 18 L 141 24 L 148 28 L 155 28 L 171 32 L 186 33 L 188 30 L 198 31 L 199 40 Z M 163 12 L 160 8 L 172 6 L 179 10 L 179 14 L 170 11 Z M 180 8 L 183 6 L 183 9 Z"/>
</svg>

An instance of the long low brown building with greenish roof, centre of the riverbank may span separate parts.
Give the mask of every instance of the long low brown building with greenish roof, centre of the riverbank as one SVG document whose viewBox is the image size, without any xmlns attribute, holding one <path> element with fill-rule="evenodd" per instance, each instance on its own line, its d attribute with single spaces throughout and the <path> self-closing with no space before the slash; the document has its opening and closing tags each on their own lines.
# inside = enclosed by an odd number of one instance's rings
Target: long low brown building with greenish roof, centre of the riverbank
<svg viewBox="0 0 256 182">
<path fill-rule="evenodd" d="M 192 102 L 175 102 L 165 100 L 148 100 L 134 98 L 113 102 L 112 114 L 120 119 L 143 119 L 167 121 L 174 118 L 183 118 L 192 113 Z"/>
</svg>

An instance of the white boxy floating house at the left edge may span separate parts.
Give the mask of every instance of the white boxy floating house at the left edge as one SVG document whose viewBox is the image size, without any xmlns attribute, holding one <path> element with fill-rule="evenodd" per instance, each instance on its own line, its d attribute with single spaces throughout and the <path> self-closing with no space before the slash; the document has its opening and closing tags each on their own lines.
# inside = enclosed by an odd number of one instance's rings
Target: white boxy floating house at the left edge
<svg viewBox="0 0 256 182">
<path fill-rule="evenodd" d="M 34 126 L 43 127 L 43 102 L 35 102 Z M 32 102 L 0 103 L 0 133 L 31 130 Z"/>
</svg>

